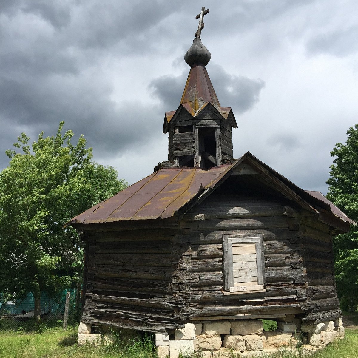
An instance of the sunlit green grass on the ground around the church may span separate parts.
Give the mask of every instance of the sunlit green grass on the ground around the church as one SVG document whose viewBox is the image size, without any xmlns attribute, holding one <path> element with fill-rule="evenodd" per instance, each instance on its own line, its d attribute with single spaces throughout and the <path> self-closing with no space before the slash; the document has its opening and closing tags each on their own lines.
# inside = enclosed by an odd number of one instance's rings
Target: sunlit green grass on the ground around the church
<svg viewBox="0 0 358 358">
<path fill-rule="evenodd" d="M 355 316 L 358 323 L 358 314 Z M 107 347 L 94 348 L 90 345 L 77 347 L 77 327 L 66 332 L 51 328 L 43 333 L 0 332 L 0 358 L 155 358 L 150 337 L 142 342 L 123 344 L 119 339 Z M 313 358 L 358 357 L 358 330 L 346 330 L 346 337 L 316 352 Z M 197 355 L 196 355 L 197 356 Z M 265 358 L 293 358 L 289 351 L 265 355 Z"/>
</svg>

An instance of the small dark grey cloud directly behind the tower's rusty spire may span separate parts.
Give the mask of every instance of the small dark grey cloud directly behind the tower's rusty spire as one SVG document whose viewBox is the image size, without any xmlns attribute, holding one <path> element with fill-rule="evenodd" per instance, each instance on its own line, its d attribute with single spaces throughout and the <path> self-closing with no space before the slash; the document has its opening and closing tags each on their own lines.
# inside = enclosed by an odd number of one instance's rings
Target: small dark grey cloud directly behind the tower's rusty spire
<svg viewBox="0 0 358 358">
<path fill-rule="evenodd" d="M 262 79 L 232 75 L 218 65 L 208 66 L 207 70 L 221 106 L 231 106 L 234 113 L 252 108 L 259 99 L 261 89 L 265 87 Z M 166 112 L 178 108 L 188 73 L 189 68 L 181 76 L 162 76 L 151 81 L 149 87 L 165 105 Z"/>
</svg>

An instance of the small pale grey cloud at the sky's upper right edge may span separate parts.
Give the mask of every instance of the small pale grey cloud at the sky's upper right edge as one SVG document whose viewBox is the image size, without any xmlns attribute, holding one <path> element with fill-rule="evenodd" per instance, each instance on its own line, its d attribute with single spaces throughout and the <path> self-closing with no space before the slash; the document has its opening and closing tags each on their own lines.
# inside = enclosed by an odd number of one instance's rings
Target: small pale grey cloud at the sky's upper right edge
<svg viewBox="0 0 358 358">
<path fill-rule="evenodd" d="M 358 50 L 358 26 L 346 30 L 322 33 L 310 39 L 307 51 L 310 54 L 328 53 L 337 57 L 345 57 Z"/>
</svg>

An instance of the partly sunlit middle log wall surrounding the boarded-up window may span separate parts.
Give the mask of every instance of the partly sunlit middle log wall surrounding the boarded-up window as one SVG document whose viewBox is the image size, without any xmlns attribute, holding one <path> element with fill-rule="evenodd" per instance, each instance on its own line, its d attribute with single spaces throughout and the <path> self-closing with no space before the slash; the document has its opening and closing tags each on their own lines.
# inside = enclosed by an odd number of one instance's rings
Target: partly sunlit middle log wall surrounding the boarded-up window
<svg viewBox="0 0 358 358">
<path fill-rule="evenodd" d="M 257 199 L 213 194 L 184 216 L 179 226 L 190 234 L 172 240 L 188 269 L 181 277 L 187 289 L 179 299 L 189 305 L 183 309 L 189 318 L 301 312 L 307 289 L 304 249 L 299 219 L 284 213 L 287 204 L 270 195 Z M 267 291 L 223 295 L 222 235 L 247 233 L 263 233 Z"/>
</svg>

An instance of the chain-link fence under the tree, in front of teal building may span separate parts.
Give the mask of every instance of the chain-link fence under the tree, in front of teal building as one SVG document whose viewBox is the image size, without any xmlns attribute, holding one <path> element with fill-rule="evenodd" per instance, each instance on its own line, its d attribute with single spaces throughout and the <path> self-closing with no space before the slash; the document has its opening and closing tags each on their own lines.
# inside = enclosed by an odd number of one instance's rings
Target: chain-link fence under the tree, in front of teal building
<svg viewBox="0 0 358 358">
<path fill-rule="evenodd" d="M 55 297 L 41 296 L 41 324 L 48 328 L 62 326 L 66 306 L 66 292 Z M 77 325 L 81 314 L 81 292 L 69 290 L 68 325 Z M 8 301 L 0 307 L 0 330 L 33 330 L 34 297 L 29 294 L 21 302 Z"/>
</svg>

